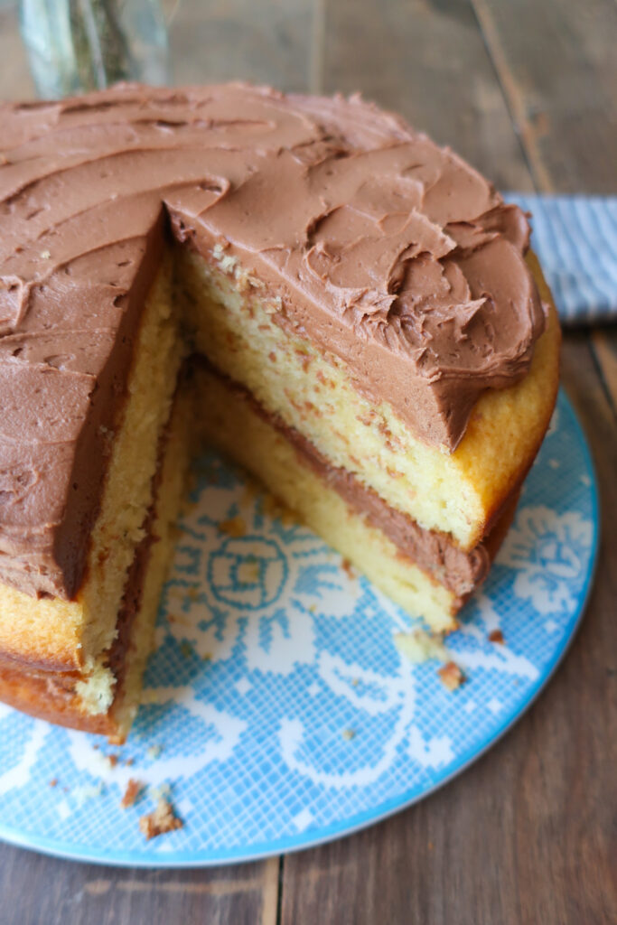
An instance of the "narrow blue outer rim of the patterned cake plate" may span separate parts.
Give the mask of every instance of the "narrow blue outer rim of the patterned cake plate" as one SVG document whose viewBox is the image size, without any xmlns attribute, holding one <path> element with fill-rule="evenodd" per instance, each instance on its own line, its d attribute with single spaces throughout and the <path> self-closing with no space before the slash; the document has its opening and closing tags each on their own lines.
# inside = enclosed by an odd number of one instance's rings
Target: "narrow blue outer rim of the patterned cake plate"
<svg viewBox="0 0 617 925">
<path fill-rule="evenodd" d="M 552 661 L 549 663 L 548 669 L 538 679 L 536 685 L 532 688 L 532 691 L 528 697 L 525 698 L 520 708 L 513 712 L 504 722 L 502 722 L 497 732 L 492 734 L 490 738 L 488 738 L 484 743 L 484 745 L 479 748 L 477 746 L 472 746 L 468 748 L 467 751 L 463 753 L 463 755 L 459 756 L 453 762 L 453 764 L 450 765 L 450 771 L 442 778 L 440 778 L 437 783 L 434 783 L 429 787 L 413 787 L 411 790 L 406 791 L 404 794 L 391 797 L 389 800 L 385 800 L 376 807 L 366 809 L 361 813 L 356 813 L 348 820 L 345 820 L 345 822 L 333 823 L 330 826 L 321 826 L 319 830 L 315 832 L 313 837 L 311 837 L 310 834 L 308 834 L 307 837 L 307 833 L 299 833 L 297 835 L 279 838 L 276 841 L 265 842 L 262 845 L 253 845 L 248 853 L 245 848 L 239 848 L 237 850 L 209 850 L 207 852 L 207 857 L 204 857 L 204 852 L 194 851 L 169 852 L 169 857 L 161 857 L 160 855 L 157 855 L 156 857 L 147 857 L 143 853 L 137 854 L 132 851 L 114 851 L 113 853 L 110 853 L 108 857 L 104 857 L 101 851 L 98 849 L 91 850 L 89 848 L 84 848 L 81 845 L 78 848 L 77 845 L 59 842 L 57 839 L 46 839 L 44 836 L 40 835 L 23 835 L 22 833 L 19 833 L 18 831 L 3 825 L 1 821 L 0 840 L 6 842 L 9 845 L 15 845 L 16 847 L 25 848 L 31 851 L 37 851 L 50 857 L 79 861 L 81 863 L 95 864 L 99 867 L 170 870 L 181 868 L 212 868 L 227 864 L 247 864 L 251 863 L 252 861 L 264 860 L 268 857 L 277 857 L 281 854 L 290 854 L 298 851 L 308 850 L 309 848 L 314 848 L 318 845 L 325 845 L 328 842 L 336 841 L 339 838 L 346 838 L 348 835 L 361 832 L 363 829 L 366 829 L 371 825 L 376 825 L 376 823 L 383 820 L 389 819 L 390 816 L 393 816 L 396 813 L 402 812 L 405 809 L 412 807 L 415 803 L 419 803 L 427 796 L 431 796 L 440 790 L 441 787 L 450 783 L 452 780 L 454 780 L 454 778 L 462 774 L 463 771 L 466 771 L 467 768 L 471 767 L 471 765 L 475 763 L 475 761 L 482 758 L 482 756 L 485 755 L 490 748 L 497 745 L 500 739 L 512 729 L 512 727 L 524 716 L 524 713 L 536 702 L 537 697 L 549 684 L 549 681 L 552 679 L 554 673 L 559 668 L 561 661 L 565 658 L 567 652 L 572 646 L 574 637 L 577 634 L 582 623 L 583 616 L 585 615 L 586 605 L 593 589 L 596 569 L 598 565 L 598 549 L 600 537 L 598 476 L 583 425 L 581 425 L 578 419 L 578 415 L 574 411 L 574 406 L 562 387 L 560 388 L 560 398 L 564 402 L 565 411 L 569 414 L 572 424 L 574 425 L 576 439 L 580 445 L 584 458 L 586 475 L 590 476 L 591 484 L 589 485 L 589 491 L 591 496 L 591 516 L 594 529 L 591 549 L 589 550 L 589 558 L 587 561 L 587 571 L 584 583 L 581 588 L 581 593 L 577 600 L 576 606 L 572 611 L 572 619 L 567 631 L 568 635 L 563 641 L 561 648 L 555 652 Z"/>
</svg>

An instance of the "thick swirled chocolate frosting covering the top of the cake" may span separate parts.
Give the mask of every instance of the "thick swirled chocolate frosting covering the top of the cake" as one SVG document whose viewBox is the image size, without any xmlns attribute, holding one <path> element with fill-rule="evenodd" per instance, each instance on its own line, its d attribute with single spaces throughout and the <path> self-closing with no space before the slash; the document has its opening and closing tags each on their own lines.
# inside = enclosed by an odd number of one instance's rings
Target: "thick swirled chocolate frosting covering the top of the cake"
<svg viewBox="0 0 617 925">
<path fill-rule="evenodd" d="M 166 227 L 237 256 L 278 324 L 446 450 L 528 369 L 545 315 L 523 213 L 357 97 L 124 85 L 0 125 L 2 581 L 80 586 Z"/>
</svg>

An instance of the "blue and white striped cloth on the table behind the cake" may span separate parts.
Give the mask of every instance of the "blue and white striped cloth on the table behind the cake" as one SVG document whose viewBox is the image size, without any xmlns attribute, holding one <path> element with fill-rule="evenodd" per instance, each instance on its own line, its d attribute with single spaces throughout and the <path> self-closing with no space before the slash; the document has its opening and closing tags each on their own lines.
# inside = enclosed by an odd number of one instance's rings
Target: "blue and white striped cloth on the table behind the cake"
<svg viewBox="0 0 617 925">
<path fill-rule="evenodd" d="M 532 213 L 532 247 L 561 322 L 617 319 L 617 196 L 508 192 L 504 198 Z"/>
</svg>

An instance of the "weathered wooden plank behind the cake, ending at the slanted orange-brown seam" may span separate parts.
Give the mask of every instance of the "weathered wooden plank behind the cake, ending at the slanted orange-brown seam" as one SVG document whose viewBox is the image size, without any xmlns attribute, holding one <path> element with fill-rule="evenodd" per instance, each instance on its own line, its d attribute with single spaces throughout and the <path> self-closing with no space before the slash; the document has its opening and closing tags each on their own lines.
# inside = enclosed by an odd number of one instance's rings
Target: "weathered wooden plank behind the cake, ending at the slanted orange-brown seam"
<svg viewBox="0 0 617 925">
<path fill-rule="evenodd" d="M 501 189 L 532 189 L 468 0 L 333 0 L 323 31 L 315 89 L 360 90 L 450 144 Z"/>
</svg>

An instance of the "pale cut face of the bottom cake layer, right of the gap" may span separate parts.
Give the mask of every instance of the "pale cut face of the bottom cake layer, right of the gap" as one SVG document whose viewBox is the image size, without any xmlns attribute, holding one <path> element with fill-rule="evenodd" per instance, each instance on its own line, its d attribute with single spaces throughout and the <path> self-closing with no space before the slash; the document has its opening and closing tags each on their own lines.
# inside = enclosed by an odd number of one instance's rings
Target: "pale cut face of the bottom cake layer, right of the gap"
<svg viewBox="0 0 617 925">
<path fill-rule="evenodd" d="M 240 462 L 403 610 L 424 617 L 435 632 L 455 628 L 458 601 L 448 588 L 402 557 L 362 514 L 352 512 L 300 461 L 290 442 L 220 377 L 200 370 L 197 383 L 195 419 L 206 443 Z"/>
</svg>

